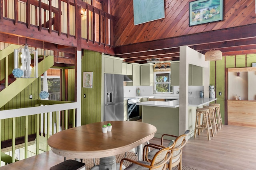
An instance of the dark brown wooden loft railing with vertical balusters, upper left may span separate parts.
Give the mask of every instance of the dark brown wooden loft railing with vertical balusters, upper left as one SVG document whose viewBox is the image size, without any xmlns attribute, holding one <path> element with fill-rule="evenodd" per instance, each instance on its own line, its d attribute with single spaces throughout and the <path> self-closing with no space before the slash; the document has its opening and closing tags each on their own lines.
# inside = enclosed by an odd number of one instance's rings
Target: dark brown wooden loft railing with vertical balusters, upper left
<svg viewBox="0 0 256 170">
<path fill-rule="evenodd" d="M 0 0 L 0 21 L 4 19 L 112 46 L 113 17 L 82 0 Z"/>
</svg>

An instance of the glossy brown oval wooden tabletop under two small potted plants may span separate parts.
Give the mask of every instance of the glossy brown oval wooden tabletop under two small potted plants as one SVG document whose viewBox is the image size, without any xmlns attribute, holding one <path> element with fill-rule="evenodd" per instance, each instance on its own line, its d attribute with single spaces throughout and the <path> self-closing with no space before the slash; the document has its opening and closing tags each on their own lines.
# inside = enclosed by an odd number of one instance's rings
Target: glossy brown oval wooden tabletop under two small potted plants
<svg viewBox="0 0 256 170">
<path fill-rule="evenodd" d="M 111 123 L 112 131 L 102 133 Z M 68 158 L 103 158 L 124 153 L 154 137 L 156 127 L 140 121 L 103 121 L 66 129 L 48 139 L 51 150 Z"/>
</svg>

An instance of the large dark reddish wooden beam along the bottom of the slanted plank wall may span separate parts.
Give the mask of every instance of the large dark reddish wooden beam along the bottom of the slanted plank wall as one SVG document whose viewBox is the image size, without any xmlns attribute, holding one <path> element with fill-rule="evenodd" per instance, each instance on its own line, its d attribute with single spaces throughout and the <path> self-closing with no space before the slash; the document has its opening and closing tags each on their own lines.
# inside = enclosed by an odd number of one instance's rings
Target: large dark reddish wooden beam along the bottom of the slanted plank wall
<svg viewBox="0 0 256 170">
<path fill-rule="evenodd" d="M 184 35 L 180 37 L 172 37 L 168 39 L 148 41 L 144 43 L 136 43 L 130 45 L 123 45 L 115 47 L 115 55 L 118 57 L 122 55 L 122 58 L 126 58 L 124 55 L 137 54 L 139 57 L 140 53 L 146 51 L 157 51 L 160 49 L 178 48 L 182 45 L 198 46 L 203 44 L 213 44 L 221 42 L 231 42 L 242 39 L 256 38 L 256 32 L 251 31 L 256 29 L 256 24 L 243 25 L 239 27 L 232 27 L 228 29 L 220 29 L 215 31 L 207 31 L 202 33 L 196 33 L 191 35 Z M 228 44 L 228 43 L 227 43 Z M 221 48 L 221 46 L 218 46 Z M 216 47 L 217 48 L 217 47 Z M 198 50 L 200 50 L 198 48 Z"/>
</svg>

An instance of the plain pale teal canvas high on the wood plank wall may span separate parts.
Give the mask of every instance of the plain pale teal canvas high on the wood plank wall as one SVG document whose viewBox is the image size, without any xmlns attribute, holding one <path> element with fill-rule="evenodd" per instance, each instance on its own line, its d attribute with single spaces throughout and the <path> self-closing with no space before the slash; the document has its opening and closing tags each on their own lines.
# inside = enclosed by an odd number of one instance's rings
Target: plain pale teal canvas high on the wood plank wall
<svg viewBox="0 0 256 170">
<path fill-rule="evenodd" d="M 164 18 L 164 0 L 133 0 L 134 25 Z"/>
</svg>

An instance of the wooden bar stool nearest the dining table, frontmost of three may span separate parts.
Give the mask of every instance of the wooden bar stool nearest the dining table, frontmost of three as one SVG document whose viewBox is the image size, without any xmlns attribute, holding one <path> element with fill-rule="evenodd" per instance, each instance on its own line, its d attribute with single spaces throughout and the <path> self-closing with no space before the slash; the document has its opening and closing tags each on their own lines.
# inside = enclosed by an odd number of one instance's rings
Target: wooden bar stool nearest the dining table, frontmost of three
<svg viewBox="0 0 256 170">
<path fill-rule="evenodd" d="M 209 109 L 204 109 L 204 108 L 196 109 L 196 123 L 195 123 L 194 138 L 196 138 L 196 130 L 198 130 L 198 135 L 200 135 L 200 130 L 206 130 L 209 141 L 211 140 L 210 131 L 212 133 L 212 137 L 214 137 L 209 113 L 210 113 Z M 203 116 L 202 121 L 201 121 L 201 115 Z"/>
</svg>

